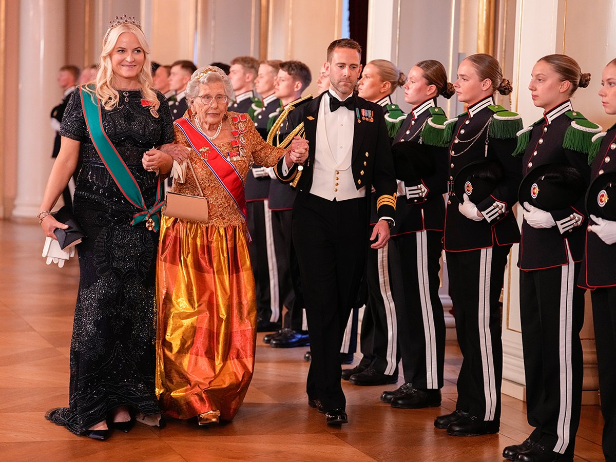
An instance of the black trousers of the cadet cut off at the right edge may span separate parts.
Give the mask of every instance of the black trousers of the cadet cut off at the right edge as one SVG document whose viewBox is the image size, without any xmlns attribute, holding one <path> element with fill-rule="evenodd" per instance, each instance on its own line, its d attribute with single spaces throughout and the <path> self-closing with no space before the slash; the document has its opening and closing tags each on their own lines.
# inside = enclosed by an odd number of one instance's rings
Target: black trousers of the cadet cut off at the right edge
<svg viewBox="0 0 616 462">
<path fill-rule="evenodd" d="M 616 461 L 616 287 L 598 288 L 593 300 L 594 341 L 599 365 L 603 425 L 603 455 Z"/>
</svg>

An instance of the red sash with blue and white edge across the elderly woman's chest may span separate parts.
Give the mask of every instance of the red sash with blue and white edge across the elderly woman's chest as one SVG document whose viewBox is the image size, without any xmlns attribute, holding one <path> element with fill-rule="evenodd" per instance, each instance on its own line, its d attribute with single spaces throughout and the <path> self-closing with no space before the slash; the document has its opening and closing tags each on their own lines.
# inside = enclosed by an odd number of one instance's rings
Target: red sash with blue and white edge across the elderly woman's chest
<svg viewBox="0 0 616 462">
<path fill-rule="evenodd" d="M 197 152 L 203 163 L 208 166 L 219 182 L 221 182 L 222 187 L 229 193 L 240 213 L 246 219 L 244 182 L 235 166 L 222 155 L 220 150 L 190 120 L 180 117 L 174 124 L 182 130 L 190 146 Z M 204 148 L 208 150 L 207 159 L 201 155 Z"/>
</svg>

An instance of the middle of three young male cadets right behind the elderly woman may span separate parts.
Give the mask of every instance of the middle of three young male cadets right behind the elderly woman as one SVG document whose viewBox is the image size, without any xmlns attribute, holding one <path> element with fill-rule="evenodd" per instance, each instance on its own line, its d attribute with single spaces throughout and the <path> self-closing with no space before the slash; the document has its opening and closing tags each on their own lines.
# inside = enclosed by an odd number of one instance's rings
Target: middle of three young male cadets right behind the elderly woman
<svg viewBox="0 0 616 462">
<path fill-rule="evenodd" d="M 262 61 L 254 81 L 263 99 L 253 103 L 253 120 L 259 134 L 267 139 L 267 121 L 270 113 L 280 107 L 274 95 L 274 79 L 282 61 Z M 257 331 L 275 331 L 281 326 L 280 295 L 278 294 L 278 267 L 272 235 L 272 213 L 267 205 L 270 176 L 267 168 L 253 165 L 246 177 L 246 205 L 248 207 L 248 231 L 253 237 L 250 259 L 253 265 L 257 294 Z"/>
</svg>

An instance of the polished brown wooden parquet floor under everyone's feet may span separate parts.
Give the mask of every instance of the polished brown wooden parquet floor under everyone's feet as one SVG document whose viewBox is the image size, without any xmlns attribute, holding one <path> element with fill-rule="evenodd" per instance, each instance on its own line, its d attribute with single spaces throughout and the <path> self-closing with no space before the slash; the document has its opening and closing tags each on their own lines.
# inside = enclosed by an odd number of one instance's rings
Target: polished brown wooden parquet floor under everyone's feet
<svg viewBox="0 0 616 462">
<path fill-rule="evenodd" d="M 163 430 L 137 424 L 104 442 L 75 436 L 44 413 L 68 402 L 78 264 L 47 266 L 42 248 L 38 225 L 0 221 L 0 461 L 498 461 L 503 447 L 529 433 L 524 403 L 505 395 L 496 435 L 451 437 L 432 426 L 455 408 L 455 341 L 447 345 L 440 409 L 394 409 L 379 401 L 390 387 L 345 382 L 351 422 L 328 428 L 307 406 L 306 349 L 274 349 L 259 334 L 253 382 L 233 423 L 203 429 L 171 419 Z M 599 408 L 583 407 L 576 460 L 603 460 L 601 430 Z"/>
</svg>

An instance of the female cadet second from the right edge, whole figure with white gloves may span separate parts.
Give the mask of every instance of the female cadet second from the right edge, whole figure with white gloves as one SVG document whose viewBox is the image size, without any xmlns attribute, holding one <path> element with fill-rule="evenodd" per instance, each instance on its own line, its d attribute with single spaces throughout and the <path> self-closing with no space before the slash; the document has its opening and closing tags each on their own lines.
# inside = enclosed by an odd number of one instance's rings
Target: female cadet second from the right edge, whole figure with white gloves
<svg viewBox="0 0 616 462">
<path fill-rule="evenodd" d="M 519 249 L 520 317 L 526 408 L 535 429 L 524 443 L 506 447 L 503 456 L 525 462 L 572 460 L 582 405 L 584 291 L 576 286 L 585 236 L 583 191 L 588 185 L 588 148 L 601 129 L 573 110 L 569 100 L 586 87 L 575 60 L 548 55 L 535 63 L 529 90 L 543 118 L 519 133 L 514 155 L 522 155 L 525 179 L 520 187 L 524 207 Z M 579 197 L 551 206 L 546 196 L 552 166 L 569 166 L 580 176 Z M 541 169 L 541 170 L 539 170 Z M 543 169 L 546 169 L 543 172 Z M 555 177 L 567 180 L 565 173 Z M 533 171 L 537 170 L 537 174 Z M 568 185 L 572 190 L 575 185 Z M 531 204 L 545 197 L 543 209 Z M 563 194 L 561 194 L 561 197 Z M 530 198 L 530 200 L 529 200 Z M 554 202 L 552 200 L 551 202 Z M 568 206 L 567 206 L 568 204 Z"/>
</svg>

